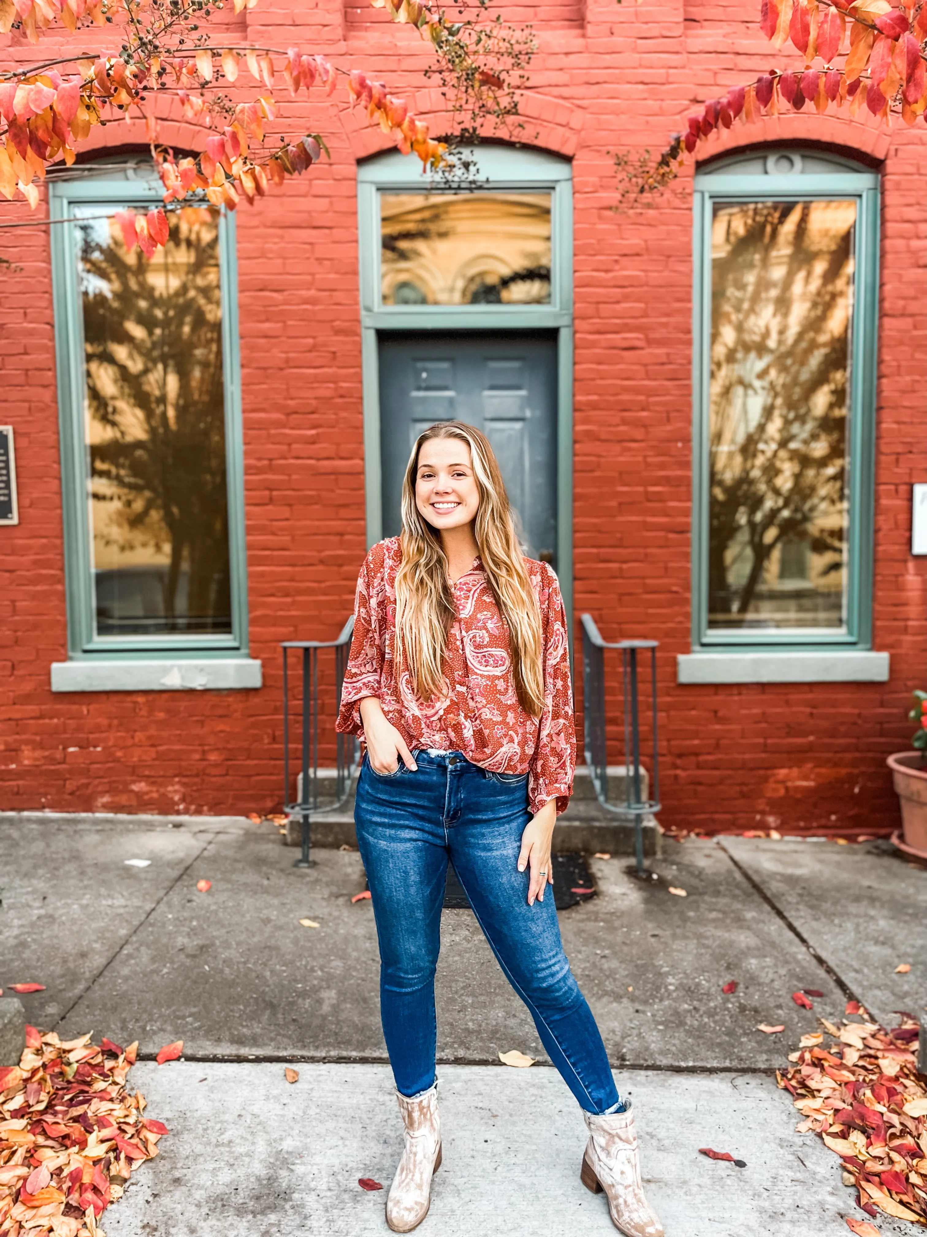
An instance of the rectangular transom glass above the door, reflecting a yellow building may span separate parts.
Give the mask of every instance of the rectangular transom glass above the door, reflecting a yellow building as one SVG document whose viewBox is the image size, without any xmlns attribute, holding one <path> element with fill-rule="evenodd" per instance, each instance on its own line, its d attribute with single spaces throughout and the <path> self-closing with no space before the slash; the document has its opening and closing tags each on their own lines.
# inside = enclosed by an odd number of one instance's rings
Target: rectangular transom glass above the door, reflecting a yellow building
<svg viewBox="0 0 927 1237">
<path fill-rule="evenodd" d="M 549 304 L 550 193 L 381 193 L 383 304 Z"/>
</svg>

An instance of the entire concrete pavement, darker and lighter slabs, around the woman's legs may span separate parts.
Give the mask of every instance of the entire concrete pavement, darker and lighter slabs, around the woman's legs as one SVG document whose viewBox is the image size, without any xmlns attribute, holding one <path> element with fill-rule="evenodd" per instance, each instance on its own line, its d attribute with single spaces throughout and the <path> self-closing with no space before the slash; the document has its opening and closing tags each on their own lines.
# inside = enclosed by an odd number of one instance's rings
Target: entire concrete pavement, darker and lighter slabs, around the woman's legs
<svg viewBox="0 0 927 1237">
<path fill-rule="evenodd" d="M 839 1019 L 848 995 L 884 1021 L 922 1009 L 927 871 L 884 844 L 664 849 L 653 886 L 625 858 L 592 860 L 597 896 L 560 924 L 638 1107 L 667 1232 L 848 1232 L 840 1216 L 859 1212 L 839 1163 L 795 1133 L 771 1071 L 818 1013 Z M 388 1184 L 398 1148 L 372 908 L 350 901 L 363 888 L 356 852 L 315 857 L 298 871 L 274 830 L 241 820 L 0 815 L 0 986 L 44 983 L 23 997 L 27 1017 L 63 1035 L 137 1038 L 148 1058 L 185 1043 L 183 1063 L 133 1071 L 173 1133 L 108 1212 L 110 1237 L 386 1232 L 382 1195 L 356 1184 Z M 811 1012 L 791 999 L 802 987 L 824 993 Z M 582 1124 L 556 1072 L 497 1063 L 499 1050 L 543 1050 L 470 910 L 444 914 L 438 1003 L 447 1143 L 429 1230 L 613 1231 L 578 1183 Z M 293 1087 L 283 1063 L 299 1064 Z M 748 1168 L 700 1157 L 705 1145 Z"/>
</svg>

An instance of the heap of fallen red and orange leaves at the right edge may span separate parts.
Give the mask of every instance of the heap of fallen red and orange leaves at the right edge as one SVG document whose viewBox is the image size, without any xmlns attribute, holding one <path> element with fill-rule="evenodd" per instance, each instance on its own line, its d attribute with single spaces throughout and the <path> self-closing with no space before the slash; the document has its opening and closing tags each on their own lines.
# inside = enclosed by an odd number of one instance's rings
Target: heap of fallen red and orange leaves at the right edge
<svg viewBox="0 0 927 1237">
<path fill-rule="evenodd" d="M 824 1032 L 802 1035 L 789 1056 L 795 1066 L 777 1074 L 813 1129 L 843 1160 L 859 1191 L 859 1206 L 927 1225 L 927 1087 L 917 1074 L 918 1024 L 910 1014 L 886 1030 L 869 1022 L 855 1002 L 857 1021 L 842 1027 L 821 1018 Z M 866 1021 L 859 1021 L 866 1019 Z M 847 1180 L 849 1184 L 849 1179 Z"/>
</svg>

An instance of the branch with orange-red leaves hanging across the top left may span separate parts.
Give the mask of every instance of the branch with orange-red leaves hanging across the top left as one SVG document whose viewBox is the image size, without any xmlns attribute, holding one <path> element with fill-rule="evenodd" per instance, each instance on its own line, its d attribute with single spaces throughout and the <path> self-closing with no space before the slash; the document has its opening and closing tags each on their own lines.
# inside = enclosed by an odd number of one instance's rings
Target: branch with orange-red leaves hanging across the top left
<svg viewBox="0 0 927 1237">
<path fill-rule="evenodd" d="M 235 12 L 256 2 L 234 0 Z M 216 43 L 203 26 L 222 0 L 0 0 L 0 32 L 20 30 L 33 43 L 64 30 L 85 43 L 94 27 L 116 28 L 122 38 L 119 51 L 82 49 L 0 69 L 0 194 L 22 197 L 35 209 L 37 182 L 48 167 L 72 165 L 98 125 L 137 116 L 145 120 L 168 208 L 197 198 L 230 210 L 242 198 L 252 203 L 271 186 L 305 172 L 326 150 L 321 134 L 283 136 L 268 146 L 265 129 L 279 114 L 273 92 L 281 78 L 293 98 L 300 90 L 331 98 L 344 89 L 351 106 L 362 106 L 403 153 L 415 153 L 431 169 L 452 163 L 455 142 L 471 141 L 487 120 L 497 127 L 512 121 L 517 90 L 525 84 L 530 35 L 519 40 L 498 24 L 487 26 L 481 21 L 486 0 L 477 0 L 475 17 L 459 22 L 430 0 L 371 2 L 431 45 L 433 71 L 460 121 L 456 137 L 433 137 L 404 99 L 360 69 L 344 69 L 298 47 Z M 236 101 L 221 88 L 235 85 L 242 61 L 260 93 Z M 159 143 L 167 98 L 179 100 L 184 119 L 213 131 L 201 153 L 178 157 Z M 168 239 L 164 209 L 122 212 L 119 221 L 126 244 L 137 242 L 147 255 Z"/>
</svg>

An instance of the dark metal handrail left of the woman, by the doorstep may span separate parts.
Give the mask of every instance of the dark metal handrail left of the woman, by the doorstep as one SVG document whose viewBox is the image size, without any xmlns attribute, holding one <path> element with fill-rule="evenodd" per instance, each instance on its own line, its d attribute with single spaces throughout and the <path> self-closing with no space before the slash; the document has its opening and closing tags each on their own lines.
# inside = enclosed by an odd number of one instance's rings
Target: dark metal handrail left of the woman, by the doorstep
<svg viewBox="0 0 927 1237">
<path fill-rule="evenodd" d="M 347 620 L 337 640 L 287 640 L 283 641 L 283 810 L 290 819 L 299 818 L 303 826 L 303 851 L 294 867 L 313 867 L 309 857 L 310 811 L 335 811 L 351 792 L 361 745 L 353 735 L 336 736 L 335 741 L 335 802 L 319 807 L 319 649 L 335 649 L 335 715 L 341 708 L 341 688 L 345 682 L 347 658 L 351 652 L 353 615 Z M 289 802 L 289 664 L 290 648 L 303 651 L 303 750 L 300 794 Z"/>
</svg>

